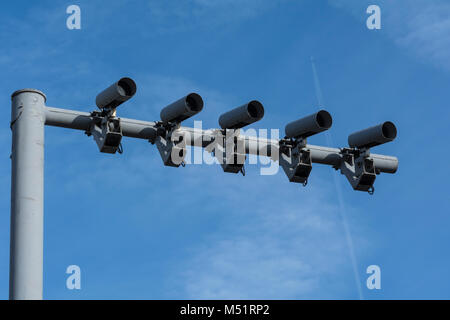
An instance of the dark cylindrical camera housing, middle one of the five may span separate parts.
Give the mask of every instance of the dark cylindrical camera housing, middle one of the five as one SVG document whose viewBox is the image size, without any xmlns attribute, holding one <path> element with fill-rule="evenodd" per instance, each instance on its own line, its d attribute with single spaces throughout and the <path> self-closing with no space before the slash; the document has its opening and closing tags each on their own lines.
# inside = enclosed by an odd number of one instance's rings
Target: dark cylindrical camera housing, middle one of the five
<svg viewBox="0 0 450 320">
<path fill-rule="evenodd" d="M 256 100 L 222 114 L 219 125 L 222 129 L 239 129 L 259 121 L 264 116 L 263 105 Z"/>
</svg>

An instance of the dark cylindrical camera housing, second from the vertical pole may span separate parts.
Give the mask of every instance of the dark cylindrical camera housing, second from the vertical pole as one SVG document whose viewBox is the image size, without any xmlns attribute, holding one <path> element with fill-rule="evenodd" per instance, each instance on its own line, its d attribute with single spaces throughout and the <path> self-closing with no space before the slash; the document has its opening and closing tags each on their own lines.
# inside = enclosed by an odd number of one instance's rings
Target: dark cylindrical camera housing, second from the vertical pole
<svg viewBox="0 0 450 320">
<path fill-rule="evenodd" d="M 163 122 L 180 123 L 181 121 L 196 115 L 202 111 L 202 109 L 202 97 L 197 93 L 190 93 L 162 109 L 160 116 Z"/>
</svg>

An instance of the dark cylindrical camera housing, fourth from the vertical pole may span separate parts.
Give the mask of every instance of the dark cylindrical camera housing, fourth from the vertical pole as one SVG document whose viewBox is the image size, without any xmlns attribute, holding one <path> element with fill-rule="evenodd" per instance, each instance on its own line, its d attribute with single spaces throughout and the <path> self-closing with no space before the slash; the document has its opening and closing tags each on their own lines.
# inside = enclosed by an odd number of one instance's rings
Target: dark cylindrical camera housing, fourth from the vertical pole
<svg viewBox="0 0 450 320">
<path fill-rule="evenodd" d="M 307 117 L 288 123 L 285 127 L 287 138 L 307 138 L 316 133 L 328 130 L 333 119 L 328 111 L 320 110 Z"/>
</svg>

